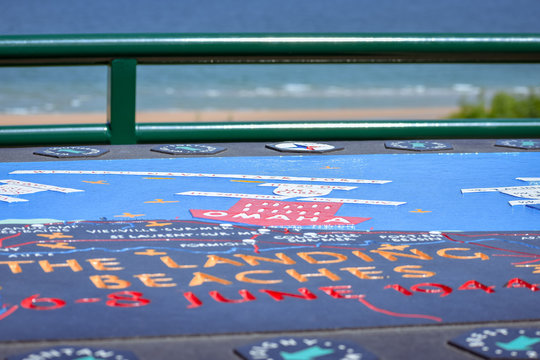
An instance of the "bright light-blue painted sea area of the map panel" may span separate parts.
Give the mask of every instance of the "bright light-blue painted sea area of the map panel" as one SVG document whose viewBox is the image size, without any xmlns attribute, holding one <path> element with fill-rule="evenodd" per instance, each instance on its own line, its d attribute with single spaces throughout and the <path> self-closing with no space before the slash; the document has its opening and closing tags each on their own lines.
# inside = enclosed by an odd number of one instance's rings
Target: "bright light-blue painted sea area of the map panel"
<svg viewBox="0 0 540 360">
<path fill-rule="evenodd" d="M 287 157 L 96 160 L 0 164 L 0 180 L 14 179 L 84 190 L 62 194 L 22 195 L 25 203 L 0 202 L 0 220 L 49 218 L 69 220 L 193 219 L 191 209 L 227 210 L 239 199 L 175 195 L 211 191 L 271 195 L 274 187 L 229 178 L 125 175 L 10 175 L 13 170 L 165 171 L 216 174 L 283 175 L 391 180 L 387 184 L 339 184 L 328 198 L 403 201 L 399 206 L 343 204 L 339 216 L 371 218 L 357 230 L 536 230 L 540 211 L 510 206 L 519 200 L 499 192 L 462 194 L 461 189 L 525 186 L 517 177 L 538 177 L 540 153 L 326 155 Z M 85 181 L 102 181 L 106 184 Z M 278 183 L 306 183 L 263 181 Z M 324 183 L 315 183 L 324 184 Z M 176 201 L 148 203 L 155 199 Z M 298 201 L 291 198 L 288 201 Z"/>
</svg>

